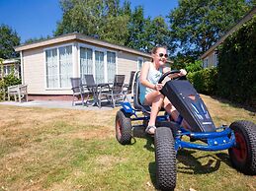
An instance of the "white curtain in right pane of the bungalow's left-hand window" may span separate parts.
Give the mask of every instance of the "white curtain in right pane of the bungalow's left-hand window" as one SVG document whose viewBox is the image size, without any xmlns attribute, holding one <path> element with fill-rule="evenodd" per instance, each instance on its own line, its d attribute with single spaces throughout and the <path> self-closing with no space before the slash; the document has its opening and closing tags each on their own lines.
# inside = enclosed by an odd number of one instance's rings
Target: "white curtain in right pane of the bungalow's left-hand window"
<svg viewBox="0 0 256 191">
<path fill-rule="evenodd" d="M 70 87 L 70 78 L 73 74 L 72 45 L 59 48 L 59 82 L 60 88 Z"/>
</svg>

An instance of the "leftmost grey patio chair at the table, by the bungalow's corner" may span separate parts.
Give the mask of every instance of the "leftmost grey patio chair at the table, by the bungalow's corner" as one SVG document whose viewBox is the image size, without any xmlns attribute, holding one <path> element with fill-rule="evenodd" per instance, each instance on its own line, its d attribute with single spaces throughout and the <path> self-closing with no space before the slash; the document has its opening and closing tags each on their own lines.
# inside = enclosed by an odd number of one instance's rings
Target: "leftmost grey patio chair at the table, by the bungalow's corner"
<svg viewBox="0 0 256 191">
<path fill-rule="evenodd" d="M 79 100 L 81 98 L 82 105 L 85 104 L 84 99 L 85 99 L 85 92 L 84 88 L 82 86 L 82 80 L 81 78 L 70 78 L 71 81 L 71 90 L 73 92 L 73 100 L 72 100 L 72 105 L 75 105 L 75 98 Z M 87 100 L 89 98 L 89 94 L 87 95 Z"/>
</svg>

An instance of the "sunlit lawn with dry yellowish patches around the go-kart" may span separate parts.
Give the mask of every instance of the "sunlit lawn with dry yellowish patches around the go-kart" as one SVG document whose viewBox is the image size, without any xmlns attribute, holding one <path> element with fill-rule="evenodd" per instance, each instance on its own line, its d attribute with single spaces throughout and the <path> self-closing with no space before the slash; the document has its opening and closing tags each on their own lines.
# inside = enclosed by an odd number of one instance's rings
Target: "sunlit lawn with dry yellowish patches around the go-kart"
<svg viewBox="0 0 256 191">
<path fill-rule="evenodd" d="M 216 125 L 255 112 L 203 96 Z M 111 111 L 0 105 L 0 190 L 155 190 L 150 139 L 121 146 Z M 181 150 L 176 190 L 256 190 L 255 176 L 230 166 L 228 154 Z"/>
</svg>

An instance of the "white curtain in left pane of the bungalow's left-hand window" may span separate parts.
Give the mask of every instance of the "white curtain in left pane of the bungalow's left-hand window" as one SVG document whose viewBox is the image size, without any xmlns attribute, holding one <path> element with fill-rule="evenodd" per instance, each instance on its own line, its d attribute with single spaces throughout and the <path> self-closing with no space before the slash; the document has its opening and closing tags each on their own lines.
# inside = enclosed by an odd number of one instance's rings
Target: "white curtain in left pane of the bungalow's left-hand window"
<svg viewBox="0 0 256 191">
<path fill-rule="evenodd" d="M 57 49 L 46 50 L 46 87 L 58 88 Z"/>
</svg>

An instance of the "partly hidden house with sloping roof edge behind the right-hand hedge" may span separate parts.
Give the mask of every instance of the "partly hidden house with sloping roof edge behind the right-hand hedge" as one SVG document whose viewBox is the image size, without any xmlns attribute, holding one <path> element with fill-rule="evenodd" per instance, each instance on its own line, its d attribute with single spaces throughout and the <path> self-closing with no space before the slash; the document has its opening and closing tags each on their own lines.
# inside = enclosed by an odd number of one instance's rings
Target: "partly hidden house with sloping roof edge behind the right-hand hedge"
<svg viewBox="0 0 256 191">
<path fill-rule="evenodd" d="M 202 56 L 201 59 L 203 60 L 203 67 L 208 68 L 212 66 L 217 66 L 218 59 L 217 59 L 217 46 L 221 44 L 225 38 L 228 37 L 231 33 L 237 31 L 240 26 L 244 23 L 249 21 L 256 13 L 256 7 L 251 9 L 235 26 L 233 26 L 228 32 L 226 32 L 220 39 L 218 39 L 213 46 L 207 50 Z"/>
</svg>

